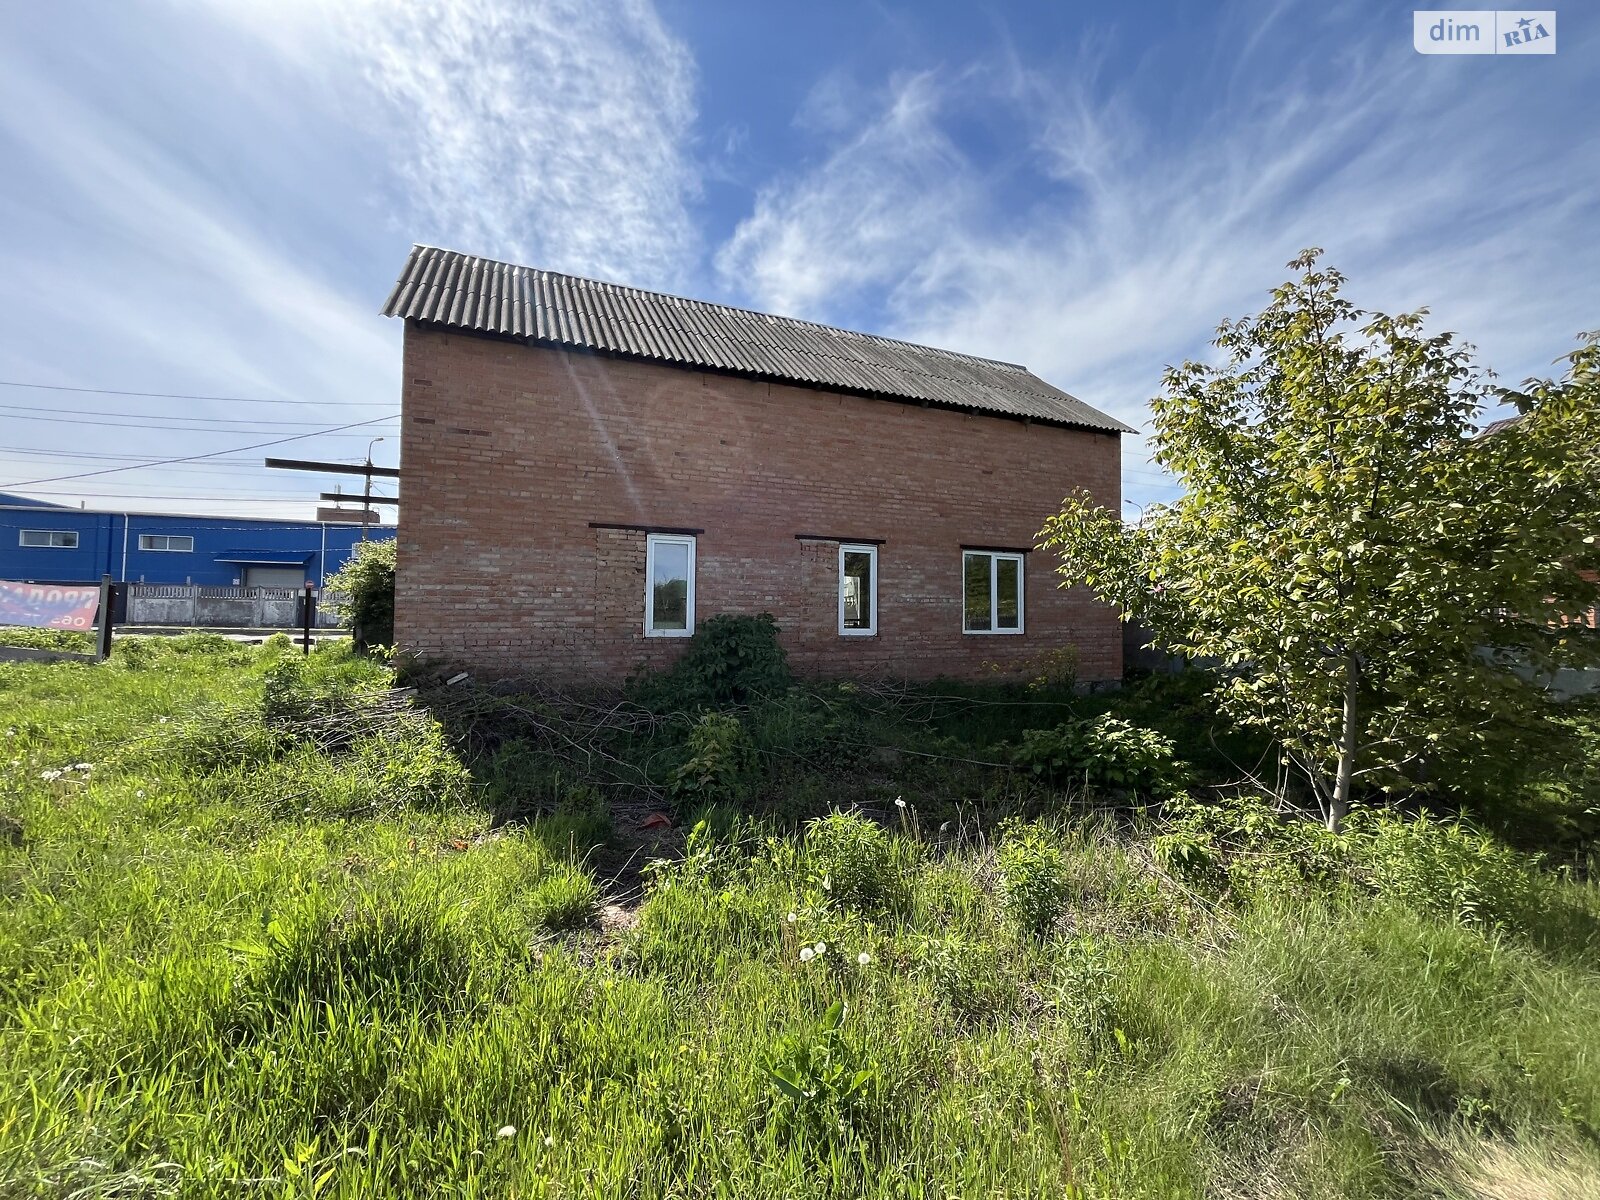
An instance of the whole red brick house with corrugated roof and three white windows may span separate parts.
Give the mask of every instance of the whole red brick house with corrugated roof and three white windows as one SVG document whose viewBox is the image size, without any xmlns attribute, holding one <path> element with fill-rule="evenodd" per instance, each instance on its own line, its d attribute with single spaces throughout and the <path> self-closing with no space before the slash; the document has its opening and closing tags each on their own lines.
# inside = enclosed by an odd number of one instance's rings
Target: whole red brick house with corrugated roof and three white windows
<svg viewBox="0 0 1600 1200">
<path fill-rule="evenodd" d="M 408 650 L 618 682 L 766 611 L 810 674 L 1122 675 L 1032 544 L 1069 491 L 1118 509 L 1130 430 L 1021 366 L 429 246 L 384 314 Z"/>
</svg>

